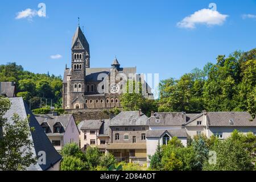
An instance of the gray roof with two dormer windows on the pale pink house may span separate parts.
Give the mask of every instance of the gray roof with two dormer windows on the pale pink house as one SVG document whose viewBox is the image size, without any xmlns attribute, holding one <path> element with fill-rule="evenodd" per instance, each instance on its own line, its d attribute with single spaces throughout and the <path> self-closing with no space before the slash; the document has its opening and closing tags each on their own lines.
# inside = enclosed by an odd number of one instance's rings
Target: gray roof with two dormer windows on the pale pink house
<svg viewBox="0 0 256 182">
<path fill-rule="evenodd" d="M 42 125 L 42 123 L 48 123 L 49 130 L 47 135 L 64 135 L 68 127 L 68 123 L 71 121 L 73 116 L 72 114 L 61 114 L 58 116 L 53 116 L 52 114 L 37 114 L 35 117 L 38 120 L 39 125 Z M 63 130 L 60 133 L 53 133 L 53 126 L 56 123 L 61 123 L 63 126 Z"/>
</svg>

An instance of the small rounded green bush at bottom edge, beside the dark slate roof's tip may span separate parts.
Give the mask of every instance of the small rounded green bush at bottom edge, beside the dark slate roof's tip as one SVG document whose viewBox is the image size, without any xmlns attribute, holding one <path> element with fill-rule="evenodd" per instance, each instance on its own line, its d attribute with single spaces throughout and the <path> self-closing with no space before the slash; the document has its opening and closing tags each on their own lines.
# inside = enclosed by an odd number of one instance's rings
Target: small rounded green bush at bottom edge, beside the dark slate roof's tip
<svg viewBox="0 0 256 182">
<path fill-rule="evenodd" d="M 60 165 L 61 171 L 84 171 L 88 169 L 85 162 L 75 156 L 66 156 Z"/>
</svg>

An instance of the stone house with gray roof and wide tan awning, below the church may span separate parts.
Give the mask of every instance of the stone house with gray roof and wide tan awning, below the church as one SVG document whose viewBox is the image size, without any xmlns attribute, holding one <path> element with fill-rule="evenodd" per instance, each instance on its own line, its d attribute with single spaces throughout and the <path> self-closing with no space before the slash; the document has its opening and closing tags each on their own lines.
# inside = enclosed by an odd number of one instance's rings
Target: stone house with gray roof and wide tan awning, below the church
<svg viewBox="0 0 256 182">
<path fill-rule="evenodd" d="M 146 162 L 148 117 L 139 111 L 122 111 L 110 119 L 110 143 L 106 147 L 118 161 Z"/>
</svg>

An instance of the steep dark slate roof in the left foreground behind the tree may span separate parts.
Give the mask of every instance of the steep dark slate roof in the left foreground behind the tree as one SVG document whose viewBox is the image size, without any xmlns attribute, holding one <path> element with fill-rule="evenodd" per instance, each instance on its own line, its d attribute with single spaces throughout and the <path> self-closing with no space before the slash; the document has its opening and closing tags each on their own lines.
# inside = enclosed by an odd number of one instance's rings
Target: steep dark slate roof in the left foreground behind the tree
<svg viewBox="0 0 256 182">
<path fill-rule="evenodd" d="M 52 146 L 52 143 L 48 139 L 47 135 L 44 133 L 42 127 L 39 125 L 38 121 L 23 101 L 22 98 L 9 98 L 11 101 L 11 108 L 5 114 L 5 118 L 7 118 L 7 122 L 13 123 L 13 115 L 16 113 L 19 115 L 21 119 L 27 118 L 27 115 L 30 115 L 30 123 L 29 127 L 34 127 L 35 131 L 31 132 L 30 139 L 33 142 L 32 152 L 34 156 L 37 158 L 39 151 L 46 152 L 46 164 L 32 164 L 27 168 L 27 171 L 44 171 L 52 167 L 52 165 L 59 162 L 62 158 L 61 155 L 55 150 Z"/>
</svg>

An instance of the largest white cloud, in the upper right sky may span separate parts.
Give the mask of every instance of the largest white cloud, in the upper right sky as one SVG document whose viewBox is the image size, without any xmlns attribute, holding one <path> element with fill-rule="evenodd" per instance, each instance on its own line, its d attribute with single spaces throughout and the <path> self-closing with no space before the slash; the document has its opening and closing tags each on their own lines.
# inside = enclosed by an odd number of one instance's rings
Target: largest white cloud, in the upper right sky
<svg viewBox="0 0 256 182">
<path fill-rule="evenodd" d="M 207 26 L 222 25 L 228 15 L 218 13 L 211 9 L 202 9 L 192 15 L 185 17 L 177 23 L 180 28 L 196 28 L 196 24 L 206 24 Z"/>
</svg>

